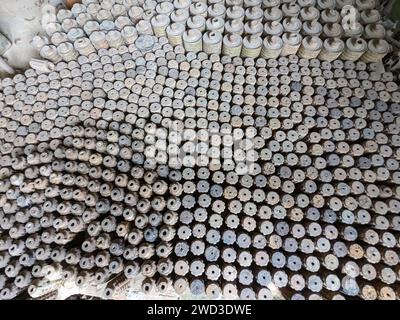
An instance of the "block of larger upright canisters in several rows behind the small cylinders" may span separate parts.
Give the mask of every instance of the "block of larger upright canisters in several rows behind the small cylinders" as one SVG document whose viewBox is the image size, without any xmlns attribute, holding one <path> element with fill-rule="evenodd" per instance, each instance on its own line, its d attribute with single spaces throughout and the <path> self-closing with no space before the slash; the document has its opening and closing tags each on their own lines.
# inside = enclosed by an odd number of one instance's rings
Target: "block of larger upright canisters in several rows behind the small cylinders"
<svg viewBox="0 0 400 320">
<path fill-rule="evenodd" d="M 47 25 L 52 44 L 43 45 L 41 53 L 69 61 L 77 51 L 117 47 L 137 34 L 154 34 L 187 51 L 231 57 L 297 53 L 306 59 L 377 62 L 390 47 L 375 7 L 375 0 L 89 0 L 54 16 Z"/>
</svg>

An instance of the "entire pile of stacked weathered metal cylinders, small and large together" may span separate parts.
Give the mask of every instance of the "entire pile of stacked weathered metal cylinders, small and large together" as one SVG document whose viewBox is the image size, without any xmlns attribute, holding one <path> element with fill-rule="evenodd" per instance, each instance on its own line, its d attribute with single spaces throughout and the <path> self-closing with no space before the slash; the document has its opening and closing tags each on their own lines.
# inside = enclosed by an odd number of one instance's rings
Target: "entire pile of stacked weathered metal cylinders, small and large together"
<svg viewBox="0 0 400 320">
<path fill-rule="evenodd" d="M 371 0 L 84 0 L 2 79 L 0 299 L 400 298 Z"/>
</svg>

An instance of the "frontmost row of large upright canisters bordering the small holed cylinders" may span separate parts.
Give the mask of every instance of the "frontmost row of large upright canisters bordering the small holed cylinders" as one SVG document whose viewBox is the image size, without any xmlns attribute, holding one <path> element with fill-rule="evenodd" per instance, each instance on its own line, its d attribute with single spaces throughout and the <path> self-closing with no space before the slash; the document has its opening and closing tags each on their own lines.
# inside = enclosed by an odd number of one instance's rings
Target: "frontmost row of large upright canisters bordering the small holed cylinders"
<svg viewBox="0 0 400 320">
<path fill-rule="evenodd" d="M 171 31 L 172 29 L 167 29 Z M 175 30 L 174 30 L 175 31 Z M 182 31 L 182 30 L 181 30 Z M 236 34 L 227 34 L 224 37 L 216 31 L 202 34 L 199 30 L 185 31 L 169 35 L 173 45 L 183 43 L 188 51 L 204 51 L 207 54 L 223 54 L 230 57 L 274 59 L 279 56 L 298 54 L 304 59 L 319 58 L 324 61 L 343 60 L 356 61 L 361 58 L 364 62 L 380 61 L 388 52 L 389 45 L 385 40 L 372 39 L 368 42 L 362 39 L 348 39 L 344 43 L 339 38 L 326 39 L 324 42 L 318 37 L 285 33 L 282 38 L 267 36 L 262 41 L 259 36 L 241 38 Z"/>
</svg>

